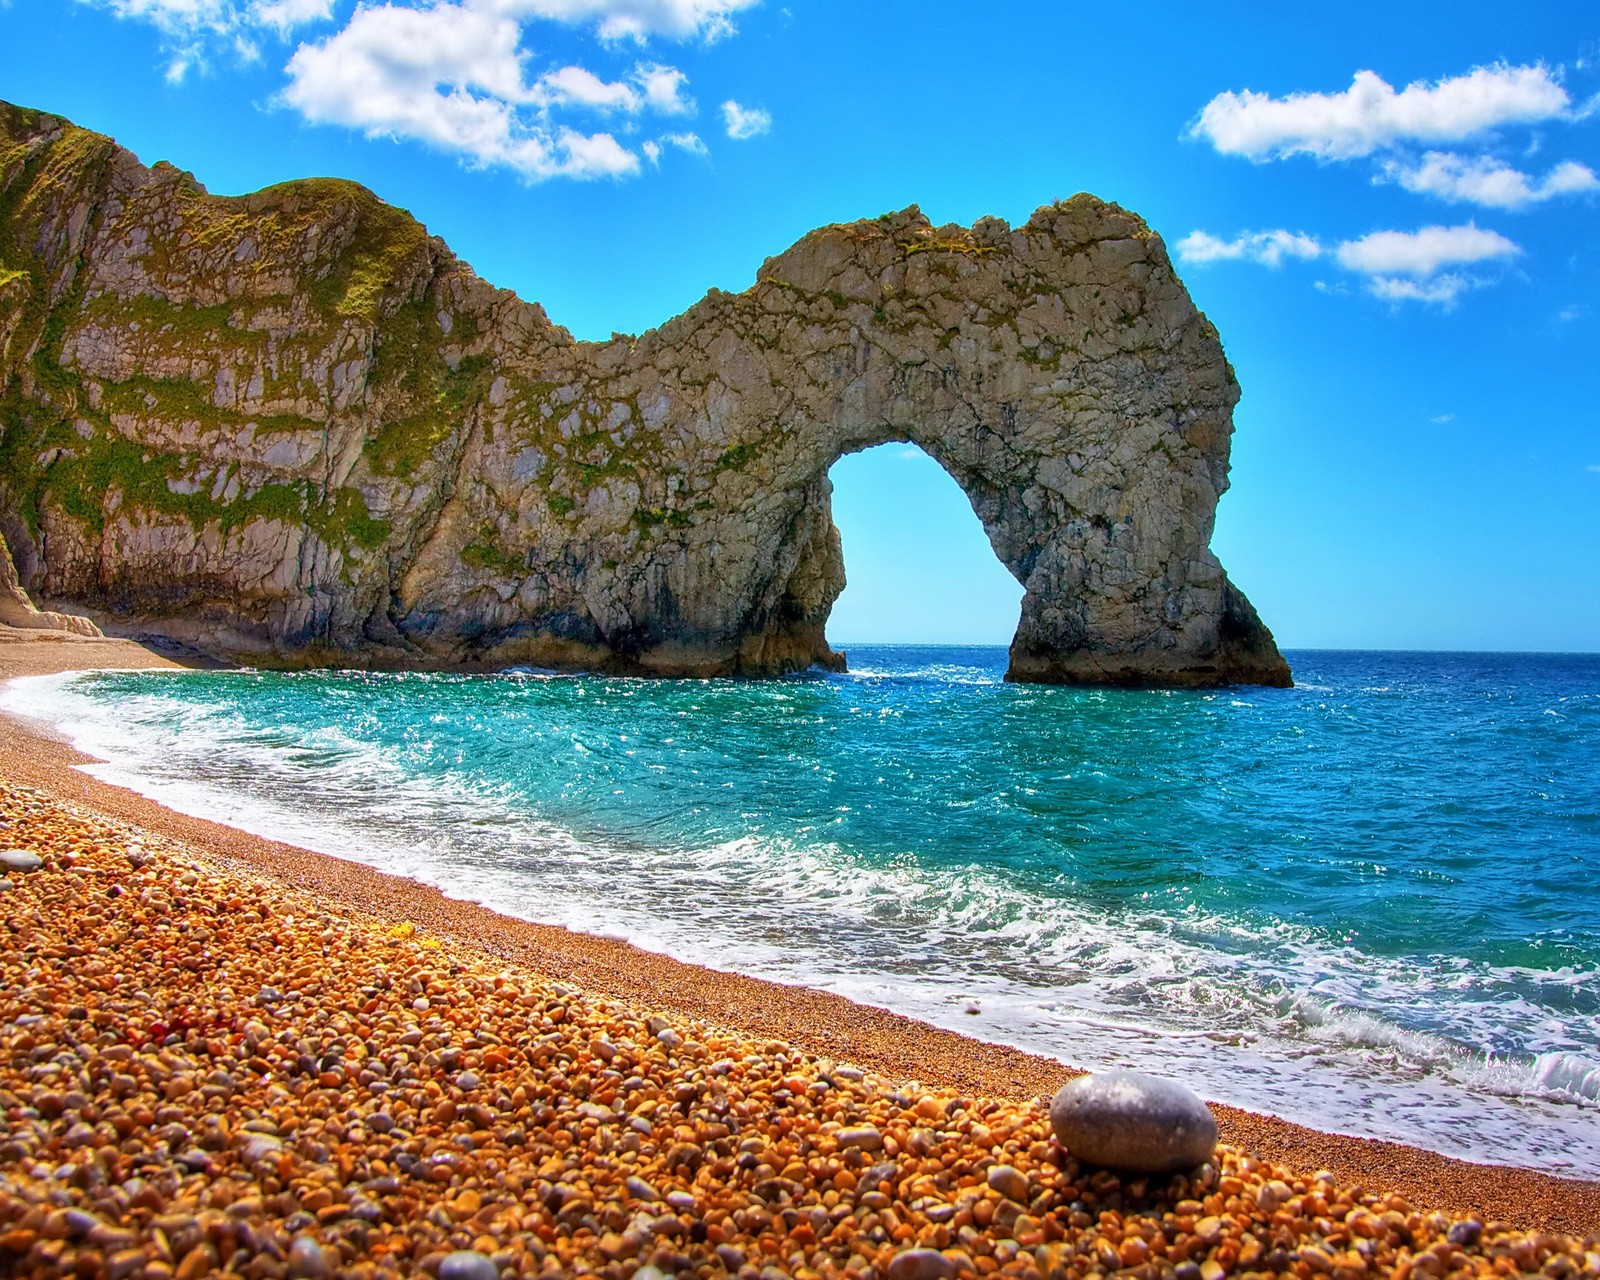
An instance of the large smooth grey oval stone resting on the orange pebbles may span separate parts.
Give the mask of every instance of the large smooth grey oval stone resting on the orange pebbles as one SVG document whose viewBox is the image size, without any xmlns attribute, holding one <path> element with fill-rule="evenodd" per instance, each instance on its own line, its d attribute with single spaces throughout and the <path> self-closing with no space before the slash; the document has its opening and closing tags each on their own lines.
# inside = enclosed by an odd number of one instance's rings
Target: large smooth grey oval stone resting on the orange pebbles
<svg viewBox="0 0 1600 1280">
<path fill-rule="evenodd" d="M 1176 1173 L 1216 1149 L 1216 1117 L 1194 1090 L 1136 1070 L 1083 1075 L 1050 1102 L 1050 1126 L 1072 1155 L 1126 1173 Z"/>
</svg>

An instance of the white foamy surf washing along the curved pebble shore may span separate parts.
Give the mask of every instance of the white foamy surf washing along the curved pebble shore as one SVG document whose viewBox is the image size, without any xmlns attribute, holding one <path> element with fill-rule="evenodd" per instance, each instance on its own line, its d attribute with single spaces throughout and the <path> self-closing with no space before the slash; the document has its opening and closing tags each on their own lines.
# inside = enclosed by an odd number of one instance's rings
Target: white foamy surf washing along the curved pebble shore
<svg viewBox="0 0 1600 1280">
<path fill-rule="evenodd" d="M 1594 1027 L 1528 995 L 1592 987 L 1594 973 L 1419 966 L 1301 926 L 1114 912 L 981 864 L 883 866 L 826 840 L 683 850 L 648 832 L 579 837 L 469 776 L 419 778 L 358 731 L 250 723 L 154 680 L 114 706 L 74 677 L 13 682 L 0 709 L 51 722 L 104 760 L 90 773 L 173 808 L 507 914 L 1090 1069 L 1181 1075 L 1216 1101 L 1326 1130 L 1600 1176 Z M 1526 1051 L 1480 1046 L 1485 1026 L 1514 1026 Z"/>
</svg>

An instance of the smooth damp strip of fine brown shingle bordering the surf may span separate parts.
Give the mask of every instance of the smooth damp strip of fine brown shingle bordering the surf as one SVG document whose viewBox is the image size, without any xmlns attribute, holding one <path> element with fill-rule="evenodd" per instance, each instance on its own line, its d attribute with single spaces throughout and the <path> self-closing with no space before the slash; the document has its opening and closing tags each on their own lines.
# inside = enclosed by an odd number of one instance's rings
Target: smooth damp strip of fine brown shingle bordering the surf
<svg viewBox="0 0 1600 1280">
<path fill-rule="evenodd" d="M 128 640 L 0 632 L 0 682 L 74 669 L 181 666 Z M 453 946 L 574 982 L 592 997 L 786 1040 L 885 1078 L 918 1080 L 928 1088 L 986 1098 L 1038 1098 L 1078 1074 L 1054 1059 L 973 1040 L 840 995 L 706 970 L 616 939 L 515 920 L 363 864 L 189 818 L 90 778 L 74 768 L 90 757 L 32 725 L 13 718 L 6 725 L 13 733 L 0 744 L 0 774 L 11 782 L 243 864 L 376 925 L 413 922 Z M 1346 1184 L 1523 1229 L 1579 1235 L 1600 1230 L 1600 1181 L 1475 1165 L 1400 1142 L 1322 1133 L 1222 1104 L 1213 1104 L 1213 1112 L 1224 1142 L 1306 1174 L 1328 1170 Z"/>
</svg>

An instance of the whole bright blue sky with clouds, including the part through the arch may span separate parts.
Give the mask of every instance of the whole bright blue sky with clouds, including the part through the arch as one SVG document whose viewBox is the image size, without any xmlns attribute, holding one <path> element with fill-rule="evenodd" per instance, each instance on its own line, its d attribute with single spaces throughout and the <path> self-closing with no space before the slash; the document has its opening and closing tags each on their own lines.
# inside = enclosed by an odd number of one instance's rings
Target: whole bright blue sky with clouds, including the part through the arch
<svg viewBox="0 0 1600 1280">
<path fill-rule="evenodd" d="M 1600 6 L 0 0 L 0 98 L 211 190 L 352 178 L 579 338 L 814 226 L 1078 190 L 1243 387 L 1213 546 L 1286 648 L 1600 650 Z M 1005 643 L 907 446 L 834 469 L 843 643 Z"/>
</svg>

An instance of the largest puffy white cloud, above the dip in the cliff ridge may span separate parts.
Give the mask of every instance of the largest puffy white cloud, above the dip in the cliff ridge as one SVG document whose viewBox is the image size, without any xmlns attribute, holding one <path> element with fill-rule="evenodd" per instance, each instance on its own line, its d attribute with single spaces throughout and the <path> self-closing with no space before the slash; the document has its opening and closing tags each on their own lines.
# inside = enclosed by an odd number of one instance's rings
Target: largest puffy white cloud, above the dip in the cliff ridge
<svg viewBox="0 0 1600 1280">
<path fill-rule="evenodd" d="M 546 93 L 525 83 L 518 42 L 517 22 L 472 5 L 360 8 L 338 34 L 296 50 L 283 101 L 307 120 L 418 139 L 530 181 L 635 173 L 638 157 L 610 133 L 552 128 L 517 110 Z M 587 72 L 562 85 L 605 96 Z"/>
</svg>

